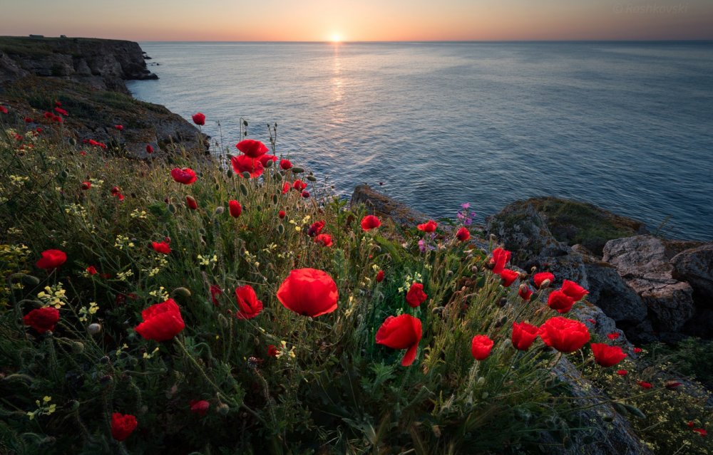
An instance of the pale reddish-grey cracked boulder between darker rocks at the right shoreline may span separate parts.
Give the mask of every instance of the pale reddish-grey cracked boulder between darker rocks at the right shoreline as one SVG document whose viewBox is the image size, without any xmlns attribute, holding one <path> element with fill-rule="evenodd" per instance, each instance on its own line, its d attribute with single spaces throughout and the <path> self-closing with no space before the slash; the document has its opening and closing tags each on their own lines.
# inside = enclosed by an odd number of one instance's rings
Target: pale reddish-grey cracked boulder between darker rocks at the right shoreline
<svg viewBox="0 0 713 455">
<path fill-rule="evenodd" d="M 682 248 L 683 242 L 634 236 L 608 241 L 603 250 L 604 261 L 642 298 L 660 332 L 678 332 L 694 313 L 693 289 L 673 277 L 670 263 Z"/>
</svg>

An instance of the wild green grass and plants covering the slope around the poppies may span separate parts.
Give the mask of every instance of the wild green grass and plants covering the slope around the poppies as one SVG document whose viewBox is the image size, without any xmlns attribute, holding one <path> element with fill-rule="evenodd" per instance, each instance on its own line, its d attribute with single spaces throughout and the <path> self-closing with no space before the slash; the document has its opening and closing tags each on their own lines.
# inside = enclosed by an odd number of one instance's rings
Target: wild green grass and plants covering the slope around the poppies
<svg viewBox="0 0 713 455">
<path fill-rule="evenodd" d="M 545 432 L 558 445 L 547 449 L 561 450 L 591 429 L 577 422 L 575 385 L 551 373 L 561 355 L 540 340 L 525 352 L 510 341 L 513 321 L 554 315 L 548 291 L 523 302 L 517 281 L 503 287 L 488 270 L 485 252 L 387 220 L 363 231 L 364 206 L 299 168 L 248 179 L 198 150 L 130 160 L 67 145 L 63 127 L 43 126 L 34 135 L 5 124 L 0 136 L 0 205 L 11 214 L 0 219 L 0 451 L 515 454 L 538 451 Z M 178 184 L 173 167 L 195 169 L 197 181 Z M 296 179 L 309 197 L 283 193 Z M 237 218 L 231 199 L 243 207 Z M 324 221 L 332 246 L 307 234 L 314 221 Z M 168 255 L 150 247 L 164 239 Z M 48 249 L 68 260 L 37 268 Z M 305 267 L 334 279 L 337 310 L 309 318 L 277 300 L 290 271 Z M 414 282 L 428 295 L 418 308 L 405 299 Z M 244 285 L 263 304 L 247 320 L 235 316 L 234 290 Z M 222 290 L 215 304 L 212 286 Z M 134 329 L 141 311 L 167 298 L 185 329 L 144 339 Z M 54 330 L 23 324 L 48 305 L 59 307 Z M 386 317 L 404 313 L 423 325 L 410 367 L 399 365 L 403 350 L 375 340 Z M 485 360 L 471 356 L 476 334 L 495 342 Z M 582 369 L 592 363 L 587 349 L 568 357 Z M 201 399 L 203 417 L 189 404 Z M 138 420 L 123 442 L 111 436 L 113 412 Z"/>
</svg>

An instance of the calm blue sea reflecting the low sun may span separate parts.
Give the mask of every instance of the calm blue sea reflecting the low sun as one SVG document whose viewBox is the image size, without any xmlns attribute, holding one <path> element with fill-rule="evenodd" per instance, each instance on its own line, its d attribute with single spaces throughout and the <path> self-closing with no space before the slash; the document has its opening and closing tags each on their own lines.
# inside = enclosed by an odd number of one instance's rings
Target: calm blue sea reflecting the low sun
<svg viewBox="0 0 713 455">
<path fill-rule="evenodd" d="M 141 43 L 136 98 L 433 216 L 540 195 L 713 239 L 713 43 Z"/>
</svg>

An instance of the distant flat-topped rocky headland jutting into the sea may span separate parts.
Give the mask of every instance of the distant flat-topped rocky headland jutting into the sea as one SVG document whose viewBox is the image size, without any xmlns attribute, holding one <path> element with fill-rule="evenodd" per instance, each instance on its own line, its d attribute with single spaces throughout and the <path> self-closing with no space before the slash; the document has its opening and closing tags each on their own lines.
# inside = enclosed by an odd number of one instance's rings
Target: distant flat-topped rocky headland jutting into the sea
<svg viewBox="0 0 713 455">
<path fill-rule="evenodd" d="M 0 38 L 0 83 L 55 77 L 126 93 L 124 80 L 158 79 L 138 43 L 91 38 Z"/>
</svg>

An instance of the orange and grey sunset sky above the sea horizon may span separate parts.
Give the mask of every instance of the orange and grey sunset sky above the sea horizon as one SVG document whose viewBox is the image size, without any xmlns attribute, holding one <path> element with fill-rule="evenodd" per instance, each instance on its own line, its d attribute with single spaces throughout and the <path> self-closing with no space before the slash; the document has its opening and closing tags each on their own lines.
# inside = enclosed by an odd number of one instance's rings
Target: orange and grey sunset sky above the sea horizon
<svg viewBox="0 0 713 455">
<path fill-rule="evenodd" d="M 132 41 L 713 39 L 712 0 L 0 0 L 0 35 Z"/>
</svg>

